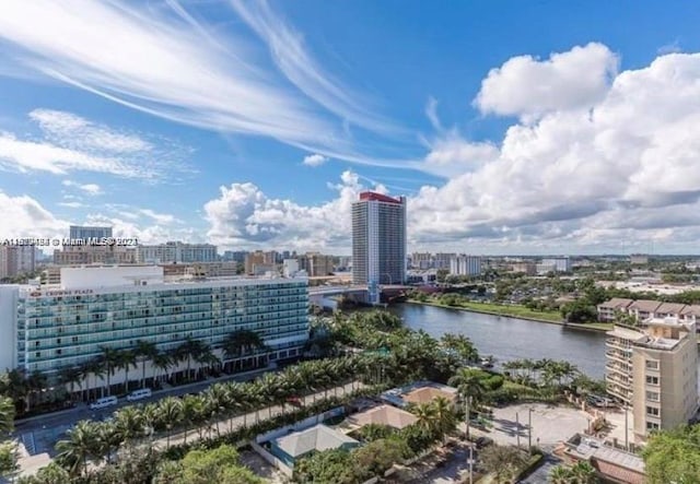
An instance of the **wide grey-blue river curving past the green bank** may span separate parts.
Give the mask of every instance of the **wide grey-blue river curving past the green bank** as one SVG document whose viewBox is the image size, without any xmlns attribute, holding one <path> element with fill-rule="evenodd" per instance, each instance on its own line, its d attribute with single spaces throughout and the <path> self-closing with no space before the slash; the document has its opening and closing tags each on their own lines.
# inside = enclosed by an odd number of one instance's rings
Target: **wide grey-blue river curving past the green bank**
<svg viewBox="0 0 700 484">
<path fill-rule="evenodd" d="M 444 333 L 468 337 L 479 354 L 493 355 L 497 365 L 520 358 L 565 359 L 592 378 L 605 375 L 603 332 L 408 303 L 388 309 L 408 328 L 422 329 L 433 338 Z"/>
</svg>

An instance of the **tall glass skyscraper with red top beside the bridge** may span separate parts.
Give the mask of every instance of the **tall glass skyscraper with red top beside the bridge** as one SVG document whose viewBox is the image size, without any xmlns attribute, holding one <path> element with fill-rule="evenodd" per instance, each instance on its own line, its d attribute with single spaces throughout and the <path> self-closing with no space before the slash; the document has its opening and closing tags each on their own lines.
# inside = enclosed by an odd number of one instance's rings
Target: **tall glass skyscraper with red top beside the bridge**
<svg viewBox="0 0 700 484">
<path fill-rule="evenodd" d="M 352 204 L 353 284 L 406 280 L 406 198 L 365 191 Z"/>
</svg>

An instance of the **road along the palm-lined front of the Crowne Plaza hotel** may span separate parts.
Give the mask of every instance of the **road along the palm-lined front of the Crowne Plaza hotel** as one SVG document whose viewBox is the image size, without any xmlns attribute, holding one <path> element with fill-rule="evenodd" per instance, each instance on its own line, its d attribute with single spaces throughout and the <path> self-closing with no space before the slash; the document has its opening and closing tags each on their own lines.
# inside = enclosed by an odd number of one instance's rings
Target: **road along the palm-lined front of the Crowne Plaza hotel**
<svg viewBox="0 0 700 484">
<path fill-rule="evenodd" d="M 196 393 L 206 390 L 213 383 L 223 381 L 247 381 L 252 380 L 264 373 L 275 371 L 276 368 L 261 368 L 255 371 L 246 371 L 238 375 L 228 375 L 219 378 L 209 378 L 203 381 L 197 381 L 179 387 L 172 387 L 159 391 L 154 391 L 153 396 L 148 399 L 139 400 L 138 403 L 155 402 L 165 397 L 179 397 L 186 393 Z M 75 422 L 81 420 L 104 420 L 109 417 L 116 410 L 133 404 L 126 398 L 119 399 L 119 403 L 115 406 L 108 406 L 102 410 L 90 410 L 86 403 L 81 403 L 74 409 L 54 412 L 46 415 L 39 415 L 18 421 L 14 425 L 15 436 L 24 444 L 30 455 L 47 452 L 54 453 L 54 445 Z"/>
</svg>

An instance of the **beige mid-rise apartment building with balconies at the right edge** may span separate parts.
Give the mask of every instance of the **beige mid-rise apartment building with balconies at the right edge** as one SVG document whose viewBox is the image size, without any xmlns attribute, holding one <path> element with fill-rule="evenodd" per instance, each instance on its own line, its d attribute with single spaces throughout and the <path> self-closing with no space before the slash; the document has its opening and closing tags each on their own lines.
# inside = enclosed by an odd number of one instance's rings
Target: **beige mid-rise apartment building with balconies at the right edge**
<svg viewBox="0 0 700 484">
<path fill-rule="evenodd" d="M 650 318 L 643 328 L 616 326 L 606 339 L 608 393 L 631 405 L 634 436 L 687 423 L 698 409 L 695 322 Z"/>
</svg>

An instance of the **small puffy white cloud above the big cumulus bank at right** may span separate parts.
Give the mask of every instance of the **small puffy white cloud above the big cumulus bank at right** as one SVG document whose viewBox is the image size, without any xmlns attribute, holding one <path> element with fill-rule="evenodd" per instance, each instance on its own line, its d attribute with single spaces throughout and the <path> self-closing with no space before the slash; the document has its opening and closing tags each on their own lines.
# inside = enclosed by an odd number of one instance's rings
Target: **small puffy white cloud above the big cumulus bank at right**
<svg viewBox="0 0 700 484">
<path fill-rule="evenodd" d="M 513 116 L 590 108 L 605 97 L 617 62 L 606 46 L 596 43 L 552 54 L 544 61 L 513 57 L 489 72 L 474 104 L 485 114 Z"/>
</svg>

